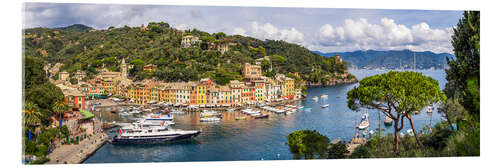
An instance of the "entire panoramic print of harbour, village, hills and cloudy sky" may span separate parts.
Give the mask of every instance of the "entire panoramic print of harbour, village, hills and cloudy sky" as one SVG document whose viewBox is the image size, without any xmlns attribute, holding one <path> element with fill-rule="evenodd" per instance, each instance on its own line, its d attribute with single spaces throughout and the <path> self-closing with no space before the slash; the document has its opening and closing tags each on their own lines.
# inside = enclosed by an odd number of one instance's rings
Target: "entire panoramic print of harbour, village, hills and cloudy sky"
<svg viewBox="0 0 500 167">
<path fill-rule="evenodd" d="M 479 11 L 23 12 L 23 164 L 480 153 Z"/>
</svg>

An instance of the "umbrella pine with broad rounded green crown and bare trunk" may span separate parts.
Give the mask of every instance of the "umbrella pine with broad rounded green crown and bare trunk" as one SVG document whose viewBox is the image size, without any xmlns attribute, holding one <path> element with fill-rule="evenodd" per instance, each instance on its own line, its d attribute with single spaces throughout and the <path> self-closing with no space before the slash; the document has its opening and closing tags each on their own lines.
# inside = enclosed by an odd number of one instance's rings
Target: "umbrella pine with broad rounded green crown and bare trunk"
<svg viewBox="0 0 500 167">
<path fill-rule="evenodd" d="M 394 152 L 398 152 L 399 131 L 407 118 L 415 138 L 421 145 L 414 128 L 412 115 L 425 106 L 446 100 L 438 81 L 419 72 L 390 71 L 363 78 L 359 86 L 347 92 L 348 107 L 377 109 L 394 121 Z"/>
</svg>

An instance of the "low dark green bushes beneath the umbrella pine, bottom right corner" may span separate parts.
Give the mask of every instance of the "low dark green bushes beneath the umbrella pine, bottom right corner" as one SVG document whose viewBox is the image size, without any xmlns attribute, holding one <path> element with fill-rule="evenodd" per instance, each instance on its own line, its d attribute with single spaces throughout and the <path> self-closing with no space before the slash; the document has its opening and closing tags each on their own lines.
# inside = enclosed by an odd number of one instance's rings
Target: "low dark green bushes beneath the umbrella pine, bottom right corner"
<svg viewBox="0 0 500 167">
<path fill-rule="evenodd" d="M 472 123 L 472 122 L 468 122 Z M 438 123 L 431 133 L 420 136 L 423 147 L 418 147 L 414 137 L 400 137 L 400 151 L 395 154 L 393 136 L 369 138 L 368 142 L 354 150 L 350 158 L 394 158 L 394 157 L 450 157 L 479 156 L 479 124 L 474 123 L 470 132 L 453 131 L 444 124 Z M 477 144 L 477 145 L 476 145 Z"/>
</svg>

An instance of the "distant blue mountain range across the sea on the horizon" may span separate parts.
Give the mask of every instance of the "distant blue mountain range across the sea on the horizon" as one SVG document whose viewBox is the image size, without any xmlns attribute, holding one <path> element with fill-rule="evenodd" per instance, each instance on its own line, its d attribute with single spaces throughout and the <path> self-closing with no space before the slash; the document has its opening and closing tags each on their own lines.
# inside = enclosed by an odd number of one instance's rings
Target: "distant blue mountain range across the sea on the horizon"
<svg viewBox="0 0 500 167">
<path fill-rule="evenodd" d="M 386 69 L 443 69 L 446 64 L 446 57 L 455 58 L 449 53 L 433 53 L 430 51 L 416 52 L 405 50 L 358 50 L 353 52 L 330 52 L 322 53 L 313 51 L 321 56 L 331 57 L 338 54 L 344 61 L 347 61 L 351 68 L 386 68 Z"/>
</svg>

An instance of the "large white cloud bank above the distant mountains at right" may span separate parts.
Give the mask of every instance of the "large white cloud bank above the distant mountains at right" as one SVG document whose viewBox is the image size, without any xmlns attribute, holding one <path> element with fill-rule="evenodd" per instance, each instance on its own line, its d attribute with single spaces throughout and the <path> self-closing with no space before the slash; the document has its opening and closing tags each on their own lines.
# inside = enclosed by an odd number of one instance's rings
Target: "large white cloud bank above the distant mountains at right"
<svg viewBox="0 0 500 167">
<path fill-rule="evenodd" d="M 341 26 L 325 24 L 319 29 L 322 50 L 392 50 L 451 52 L 452 28 L 432 29 L 422 22 L 410 28 L 397 24 L 393 19 L 382 18 L 379 24 L 366 19 L 346 19 Z"/>
</svg>

